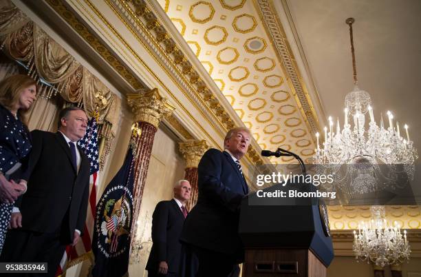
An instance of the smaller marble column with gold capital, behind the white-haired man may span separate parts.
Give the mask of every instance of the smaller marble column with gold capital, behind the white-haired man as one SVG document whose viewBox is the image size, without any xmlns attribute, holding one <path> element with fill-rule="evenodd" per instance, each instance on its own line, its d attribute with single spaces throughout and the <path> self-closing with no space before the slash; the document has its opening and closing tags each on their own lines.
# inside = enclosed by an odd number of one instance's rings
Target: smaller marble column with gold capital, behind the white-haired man
<svg viewBox="0 0 421 277">
<path fill-rule="evenodd" d="M 204 140 L 187 141 L 180 143 L 179 147 L 180 152 L 186 160 L 186 174 L 184 175 L 184 179 L 190 182 L 191 185 L 191 197 L 186 203 L 186 207 L 190 211 L 197 202 L 197 165 L 199 165 L 200 158 L 208 150 L 209 145 Z"/>
</svg>

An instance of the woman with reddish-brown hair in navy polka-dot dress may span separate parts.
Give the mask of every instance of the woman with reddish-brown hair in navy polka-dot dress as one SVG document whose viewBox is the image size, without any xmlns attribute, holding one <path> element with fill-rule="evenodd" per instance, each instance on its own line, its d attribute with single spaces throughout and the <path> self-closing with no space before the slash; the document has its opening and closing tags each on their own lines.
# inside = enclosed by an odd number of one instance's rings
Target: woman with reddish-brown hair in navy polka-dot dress
<svg viewBox="0 0 421 277">
<path fill-rule="evenodd" d="M 31 142 L 21 116 L 35 97 L 36 83 L 29 76 L 13 75 L 0 82 L 0 253 L 13 203 L 26 191 L 26 182 L 20 180 L 21 164 Z"/>
</svg>

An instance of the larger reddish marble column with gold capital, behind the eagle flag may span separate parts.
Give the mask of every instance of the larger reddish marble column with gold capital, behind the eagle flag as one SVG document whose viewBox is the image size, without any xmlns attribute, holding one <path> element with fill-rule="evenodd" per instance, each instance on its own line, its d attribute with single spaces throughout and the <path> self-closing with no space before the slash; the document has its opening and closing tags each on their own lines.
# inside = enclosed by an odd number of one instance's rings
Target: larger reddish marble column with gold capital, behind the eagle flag
<svg viewBox="0 0 421 277">
<path fill-rule="evenodd" d="M 142 203 L 155 132 L 158 130 L 158 125 L 162 119 L 171 115 L 175 108 L 167 103 L 156 88 L 149 92 L 127 94 L 127 102 L 133 112 L 134 122 L 138 123 L 138 133 L 140 134 L 131 142 L 136 159 L 133 186 L 133 223 L 131 227 L 131 242 L 133 243 L 136 240 L 136 222 Z"/>
</svg>

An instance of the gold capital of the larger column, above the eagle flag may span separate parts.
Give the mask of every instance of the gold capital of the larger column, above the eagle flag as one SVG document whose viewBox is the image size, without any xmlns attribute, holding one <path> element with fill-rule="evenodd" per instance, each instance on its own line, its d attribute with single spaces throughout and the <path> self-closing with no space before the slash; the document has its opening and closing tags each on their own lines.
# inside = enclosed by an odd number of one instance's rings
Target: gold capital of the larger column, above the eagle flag
<svg viewBox="0 0 421 277">
<path fill-rule="evenodd" d="M 135 122 L 151 123 L 157 128 L 162 119 L 175 110 L 175 107 L 160 95 L 157 88 L 149 92 L 127 94 L 127 103 L 134 114 Z"/>
</svg>

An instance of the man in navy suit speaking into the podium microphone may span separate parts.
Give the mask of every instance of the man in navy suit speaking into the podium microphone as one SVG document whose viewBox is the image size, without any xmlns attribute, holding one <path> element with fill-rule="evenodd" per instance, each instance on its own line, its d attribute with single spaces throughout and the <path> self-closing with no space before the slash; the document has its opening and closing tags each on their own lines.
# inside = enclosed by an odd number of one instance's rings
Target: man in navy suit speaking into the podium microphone
<svg viewBox="0 0 421 277">
<path fill-rule="evenodd" d="M 250 131 L 226 134 L 224 152 L 208 150 L 199 162 L 197 204 L 184 221 L 184 276 L 238 276 L 244 249 L 238 235 L 239 205 L 248 186 L 239 160 L 250 145 Z M 196 260 L 199 261 L 197 267 Z"/>
</svg>

